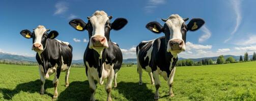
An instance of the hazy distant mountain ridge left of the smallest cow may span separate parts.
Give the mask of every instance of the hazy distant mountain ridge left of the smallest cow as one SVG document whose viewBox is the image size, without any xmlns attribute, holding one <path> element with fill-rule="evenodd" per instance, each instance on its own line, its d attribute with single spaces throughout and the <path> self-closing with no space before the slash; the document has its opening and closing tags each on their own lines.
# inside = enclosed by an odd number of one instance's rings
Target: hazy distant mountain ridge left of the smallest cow
<svg viewBox="0 0 256 101">
<path fill-rule="evenodd" d="M 0 60 L 15 60 L 15 61 L 35 62 L 36 58 L 35 57 L 12 55 L 12 54 L 8 54 L 8 53 L 0 52 Z"/>
</svg>

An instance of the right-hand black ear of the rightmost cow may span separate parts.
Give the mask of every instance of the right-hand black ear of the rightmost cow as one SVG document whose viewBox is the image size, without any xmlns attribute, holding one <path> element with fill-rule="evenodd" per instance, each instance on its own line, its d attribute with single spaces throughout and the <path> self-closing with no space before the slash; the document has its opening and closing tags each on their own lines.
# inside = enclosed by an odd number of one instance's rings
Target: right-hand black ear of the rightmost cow
<svg viewBox="0 0 256 101">
<path fill-rule="evenodd" d="M 197 29 L 201 28 L 205 24 L 205 21 L 200 18 L 191 19 L 190 22 L 187 24 L 188 30 L 196 31 Z"/>
</svg>

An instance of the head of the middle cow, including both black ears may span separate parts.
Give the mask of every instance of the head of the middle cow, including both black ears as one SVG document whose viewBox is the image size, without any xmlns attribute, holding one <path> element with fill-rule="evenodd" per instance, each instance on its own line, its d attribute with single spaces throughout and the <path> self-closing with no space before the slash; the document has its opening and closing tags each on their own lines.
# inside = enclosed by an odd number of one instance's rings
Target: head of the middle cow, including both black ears
<svg viewBox="0 0 256 101">
<path fill-rule="evenodd" d="M 127 24 L 127 20 L 124 18 L 117 18 L 113 23 L 110 23 L 112 16 L 107 16 L 104 11 L 96 11 L 87 18 L 88 23 L 81 19 L 74 19 L 69 24 L 78 31 L 88 30 L 89 48 L 95 49 L 98 53 L 104 48 L 108 48 L 110 30 L 120 30 Z"/>
</svg>

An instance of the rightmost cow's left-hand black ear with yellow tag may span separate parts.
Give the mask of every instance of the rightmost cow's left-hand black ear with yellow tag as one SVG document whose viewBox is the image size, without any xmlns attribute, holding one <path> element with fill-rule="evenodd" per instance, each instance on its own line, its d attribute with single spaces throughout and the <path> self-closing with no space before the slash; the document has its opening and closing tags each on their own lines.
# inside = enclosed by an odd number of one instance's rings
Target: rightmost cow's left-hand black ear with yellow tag
<svg viewBox="0 0 256 101">
<path fill-rule="evenodd" d="M 150 31 L 154 32 L 154 33 L 161 33 L 162 32 L 162 25 L 156 21 L 153 21 L 153 22 L 149 22 L 147 25 L 146 25 L 146 28 L 149 29 Z"/>
</svg>

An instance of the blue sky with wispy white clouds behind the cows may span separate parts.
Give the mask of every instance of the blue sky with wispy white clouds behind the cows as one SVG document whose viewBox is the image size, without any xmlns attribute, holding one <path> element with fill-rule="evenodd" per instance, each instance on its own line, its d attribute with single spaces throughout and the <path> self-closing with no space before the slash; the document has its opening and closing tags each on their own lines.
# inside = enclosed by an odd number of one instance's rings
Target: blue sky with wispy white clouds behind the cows
<svg viewBox="0 0 256 101">
<path fill-rule="evenodd" d="M 19 32 L 32 31 L 38 25 L 59 32 L 57 39 L 73 46 L 74 60 L 82 59 L 88 32 L 71 28 L 68 22 L 81 18 L 87 22 L 96 10 L 104 10 L 113 20 L 126 18 L 128 24 L 119 31 L 110 32 L 111 40 L 122 48 L 124 58 L 136 58 L 135 47 L 140 41 L 164 34 L 154 34 L 145 28 L 150 21 L 163 24 L 161 18 L 179 14 L 183 18 L 203 18 L 206 24 L 196 32 L 187 32 L 187 51 L 183 58 L 201 58 L 219 55 L 249 55 L 256 51 L 256 1 L 1 1 L 0 52 L 35 56 L 32 39 Z M 188 23 L 188 22 L 187 22 Z"/>
</svg>

